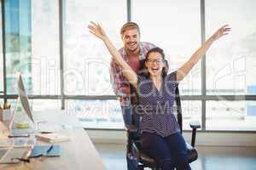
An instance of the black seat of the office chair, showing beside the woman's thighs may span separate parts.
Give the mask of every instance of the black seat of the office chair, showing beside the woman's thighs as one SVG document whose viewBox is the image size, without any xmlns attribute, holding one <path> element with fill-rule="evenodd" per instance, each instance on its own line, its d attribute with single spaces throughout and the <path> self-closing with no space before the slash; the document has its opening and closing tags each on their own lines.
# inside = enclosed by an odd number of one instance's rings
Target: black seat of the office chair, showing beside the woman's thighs
<svg viewBox="0 0 256 170">
<path fill-rule="evenodd" d="M 191 144 L 186 143 L 188 149 L 189 163 L 195 161 L 198 157 L 197 151 Z M 153 158 L 149 157 L 143 152 L 142 145 L 139 141 L 133 143 L 133 151 L 137 155 L 139 161 L 141 161 L 146 167 L 157 167 L 156 161 Z"/>
</svg>

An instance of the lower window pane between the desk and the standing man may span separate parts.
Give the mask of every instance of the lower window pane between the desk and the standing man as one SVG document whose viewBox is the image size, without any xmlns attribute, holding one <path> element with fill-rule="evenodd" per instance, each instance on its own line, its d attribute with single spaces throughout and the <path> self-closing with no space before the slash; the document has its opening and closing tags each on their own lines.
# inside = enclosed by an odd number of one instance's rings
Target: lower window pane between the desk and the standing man
<svg viewBox="0 0 256 170">
<path fill-rule="evenodd" d="M 81 125 L 89 128 L 123 129 L 124 122 L 117 100 L 66 100 L 65 108 L 79 117 Z"/>
</svg>

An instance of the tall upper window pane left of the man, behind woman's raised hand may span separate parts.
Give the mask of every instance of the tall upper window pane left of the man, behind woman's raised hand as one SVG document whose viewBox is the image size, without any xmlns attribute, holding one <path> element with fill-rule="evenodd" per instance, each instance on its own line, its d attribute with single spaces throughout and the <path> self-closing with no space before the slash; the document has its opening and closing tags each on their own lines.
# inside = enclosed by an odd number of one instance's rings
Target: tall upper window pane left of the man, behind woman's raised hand
<svg viewBox="0 0 256 170">
<path fill-rule="evenodd" d="M 113 94 L 109 81 L 111 56 L 102 41 L 90 35 L 86 26 L 90 20 L 101 23 L 113 43 L 121 47 L 119 29 L 126 21 L 126 1 L 66 1 L 64 11 L 64 93 Z"/>
</svg>

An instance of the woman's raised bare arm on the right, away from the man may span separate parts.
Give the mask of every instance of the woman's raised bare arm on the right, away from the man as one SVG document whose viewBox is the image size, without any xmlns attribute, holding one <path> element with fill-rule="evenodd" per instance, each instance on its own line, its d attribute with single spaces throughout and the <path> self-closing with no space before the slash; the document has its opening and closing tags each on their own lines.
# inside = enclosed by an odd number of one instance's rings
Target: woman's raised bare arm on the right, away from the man
<svg viewBox="0 0 256 170">
<path fill-rule="evenodd" d="M 212 46 L 212 43 L 218 38 L 223 37 L 224 35 L 230 32 L 231 28 L 229 25 L 222 26 L 216 31 L 206 42 L 198 48 L 195 53 L 190 57 L 190 59 L 177 70 L 177 82 L 183 80 L 184 77 L 191 71 L 193 66 L 198 62 L 201 57 L 207 53 L 208 48 Z"/>
</svg>

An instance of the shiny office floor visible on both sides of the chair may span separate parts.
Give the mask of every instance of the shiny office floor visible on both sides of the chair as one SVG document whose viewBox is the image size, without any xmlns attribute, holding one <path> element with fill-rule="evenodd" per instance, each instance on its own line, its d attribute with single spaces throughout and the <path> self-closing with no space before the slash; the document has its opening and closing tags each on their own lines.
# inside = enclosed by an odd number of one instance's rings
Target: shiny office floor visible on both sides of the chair
<svg viewBox="0 0 256 170">
<path fill-rule="evenodd" d="M 95 144 L 107 170 L 126 170 L 125 144 Z M 255 170 L 256 147 L 197 146 L 193 170 Z"/>
</svg>

